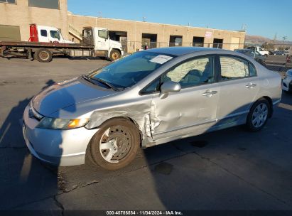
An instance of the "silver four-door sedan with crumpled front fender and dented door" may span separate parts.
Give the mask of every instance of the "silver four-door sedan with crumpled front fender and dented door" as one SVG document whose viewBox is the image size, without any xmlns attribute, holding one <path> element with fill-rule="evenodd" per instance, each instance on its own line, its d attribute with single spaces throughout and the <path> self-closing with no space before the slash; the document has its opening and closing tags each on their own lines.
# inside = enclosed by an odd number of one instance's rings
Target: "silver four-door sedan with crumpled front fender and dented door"
<svg viewBox="0 0 292 216">
<path fill-rule="evenodd" d="M 48 87 L 23 114 L 41 161 L 122 168 L 139 148 L 245 124 L 259 131 L 281 100 L 281 76 L 241 53 L 145 50 Z"/>
</svg>

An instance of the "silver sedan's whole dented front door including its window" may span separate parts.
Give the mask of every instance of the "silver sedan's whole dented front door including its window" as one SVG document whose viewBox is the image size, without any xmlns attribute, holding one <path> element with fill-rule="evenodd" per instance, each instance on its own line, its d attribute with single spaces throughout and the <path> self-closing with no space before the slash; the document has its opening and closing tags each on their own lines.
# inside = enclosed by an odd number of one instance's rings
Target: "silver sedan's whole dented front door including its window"
<svg viewBox="0 0 292 216">
<path fill-rule="evenodd" d="M 216 123 L 219 85 L 215 79 L 215 57 L 186 60 L 161 77 L 178 82 L 180 92 L 153 95 L 151 132 L 154 141 L 178 139 L 207 131 Z"/>
</svg>

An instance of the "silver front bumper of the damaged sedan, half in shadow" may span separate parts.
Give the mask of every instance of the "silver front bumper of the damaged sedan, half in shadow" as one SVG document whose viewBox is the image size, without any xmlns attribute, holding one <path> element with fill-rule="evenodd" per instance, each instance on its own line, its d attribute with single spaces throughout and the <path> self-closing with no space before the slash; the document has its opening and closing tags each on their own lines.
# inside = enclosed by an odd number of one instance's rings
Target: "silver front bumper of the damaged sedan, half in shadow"
<svg viewBox="0 0 292 216">
<path fill-rule="evenodd" d="M 23 113 L 23 137 L 31 154 L 55 166 L 75 166 L 85 163 L 85 152 L 98 129 L 52 130 L 36 128 L 38 120 Z"/>
</svg>

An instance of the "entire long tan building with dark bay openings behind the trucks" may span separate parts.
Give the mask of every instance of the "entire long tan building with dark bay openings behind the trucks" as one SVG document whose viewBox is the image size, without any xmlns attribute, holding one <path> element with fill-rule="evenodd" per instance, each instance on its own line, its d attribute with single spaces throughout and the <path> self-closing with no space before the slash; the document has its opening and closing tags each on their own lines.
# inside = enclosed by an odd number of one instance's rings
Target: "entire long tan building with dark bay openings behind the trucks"
<svg viewBox="0 0 292 216">
<path fill-rule="evenodd" d="M 85 26 L 107 28 L 110 38 L 120 41 L 129 53 L 146 45 L 148 48 L 195 45 L 234 50 L 243 48 L 245 39 L 244 31 L 77 16 L 67 11 L 67 0 L 0 0 L 0 41 L 27 41 L 30 23 L 60 28 L 65 38 L 75 38 L 75 41 L 80 41 Z"/>
</svg>

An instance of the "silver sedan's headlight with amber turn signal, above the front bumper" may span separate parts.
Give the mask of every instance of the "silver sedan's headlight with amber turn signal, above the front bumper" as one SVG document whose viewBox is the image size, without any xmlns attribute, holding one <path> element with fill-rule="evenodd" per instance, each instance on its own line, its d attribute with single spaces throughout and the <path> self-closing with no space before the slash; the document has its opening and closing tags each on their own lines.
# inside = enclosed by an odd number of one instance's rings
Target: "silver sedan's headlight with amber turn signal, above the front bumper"
<svg viewBox="0 0 292 216">
<path fill-rule="evenodd" d="M 44 117 L 36 127 L 41 129 L 67 130 L 85 126 L 88 121 L 90 119 L 53 119 Z"/>
</svg>

